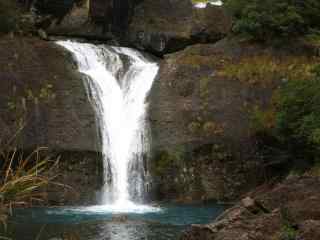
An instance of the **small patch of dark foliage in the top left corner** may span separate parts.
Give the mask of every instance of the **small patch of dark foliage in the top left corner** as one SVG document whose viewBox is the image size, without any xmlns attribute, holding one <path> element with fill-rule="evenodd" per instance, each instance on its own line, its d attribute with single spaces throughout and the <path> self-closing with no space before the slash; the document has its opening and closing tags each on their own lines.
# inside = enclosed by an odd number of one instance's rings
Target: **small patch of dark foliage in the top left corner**
<svg viewBox="0 0 320 240">
<path fill-rule="evenodd" d="M 0 0 L 0 34 L 17 29 L 19 14 L 19 8 L 14 0 Z"/>
</svg>

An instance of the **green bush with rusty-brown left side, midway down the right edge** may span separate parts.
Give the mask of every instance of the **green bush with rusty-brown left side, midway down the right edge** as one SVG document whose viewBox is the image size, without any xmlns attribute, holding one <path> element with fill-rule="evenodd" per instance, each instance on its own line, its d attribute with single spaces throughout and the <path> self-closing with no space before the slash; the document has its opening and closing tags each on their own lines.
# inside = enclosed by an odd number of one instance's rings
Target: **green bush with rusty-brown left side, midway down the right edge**
<svg viewBox="0 0 320 240">
<path fill-rule="evenodd" d="M 271 157 L 270 161 L 289 160 L 291 170 L 299 172 L 317 163 L 320 153 L 319 65 L 310 70 L 309 77 L 287 80 L 275 92 L 269 108 L 254 107 L 251 127 L 258 137 L 260 153 Z"/>
</svg>

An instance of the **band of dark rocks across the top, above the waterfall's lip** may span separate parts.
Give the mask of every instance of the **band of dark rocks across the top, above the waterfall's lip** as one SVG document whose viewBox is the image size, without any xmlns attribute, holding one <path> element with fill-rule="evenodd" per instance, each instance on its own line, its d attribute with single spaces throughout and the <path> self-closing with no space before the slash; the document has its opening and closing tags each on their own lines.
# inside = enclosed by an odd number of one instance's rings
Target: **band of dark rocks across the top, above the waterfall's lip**
<svg viewBox="0 0 320 240">
<path fill-rule="evenodd" d="M 221 7 L 194 8 L 190 0 L 38 0 L 44 17 L 38 26 L 51 35 L 110 40 L 157 55 L 194 43 L 215 42 L 231 28 Z"/>
</svg>

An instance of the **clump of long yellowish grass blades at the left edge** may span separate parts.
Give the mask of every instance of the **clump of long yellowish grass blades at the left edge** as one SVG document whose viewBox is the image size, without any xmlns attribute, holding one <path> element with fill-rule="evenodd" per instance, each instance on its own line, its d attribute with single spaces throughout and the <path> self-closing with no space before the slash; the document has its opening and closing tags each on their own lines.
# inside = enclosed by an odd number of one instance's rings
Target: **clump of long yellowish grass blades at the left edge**
<svg viewBox="0 0 320 240">
<path fill-rule="evenodd" d="M 58 159 L 53 161 L 46 156 L 45 150 L 39 147 L 30 154 L 25 154 L 17 148 L 2 144 L 0 149 L 0 229 L 2 227 L 6 230 L 7 218 L 14 207 L 29 207 L 33 204 L 45 203 L 46 188 L 54 183 L 55 178 L 48 173 L 58 163 Z"/>
</svg>

